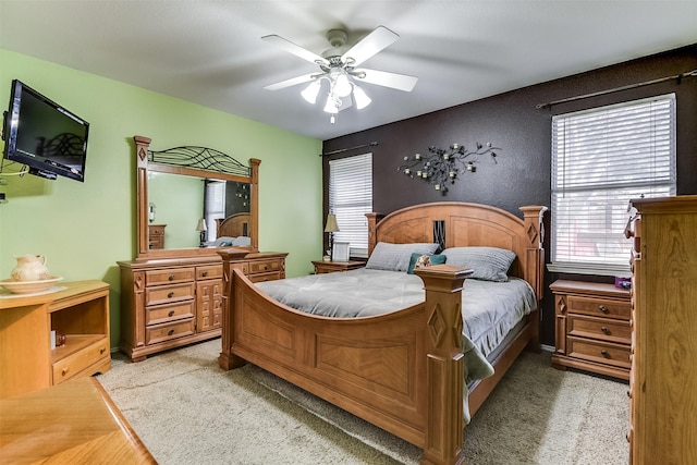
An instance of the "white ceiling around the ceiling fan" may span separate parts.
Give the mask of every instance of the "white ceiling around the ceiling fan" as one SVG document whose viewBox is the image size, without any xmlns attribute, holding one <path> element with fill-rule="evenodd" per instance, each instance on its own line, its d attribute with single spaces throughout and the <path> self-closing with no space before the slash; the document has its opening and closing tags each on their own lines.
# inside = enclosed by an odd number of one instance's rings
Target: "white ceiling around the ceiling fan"
<svg viewBox="0 0 697 465">
<path fill-rule="evenodd" d="M 332 125 L 304 86 L 262 88 L 317 68 L 261 36 L 321 53 L 378 25 L 401 37 L 365 66 L 412 93 L 365 84 Z M 695 42 L 697 0 L 0 0 L 2 48 L 319 139 Z"/>
</svg>

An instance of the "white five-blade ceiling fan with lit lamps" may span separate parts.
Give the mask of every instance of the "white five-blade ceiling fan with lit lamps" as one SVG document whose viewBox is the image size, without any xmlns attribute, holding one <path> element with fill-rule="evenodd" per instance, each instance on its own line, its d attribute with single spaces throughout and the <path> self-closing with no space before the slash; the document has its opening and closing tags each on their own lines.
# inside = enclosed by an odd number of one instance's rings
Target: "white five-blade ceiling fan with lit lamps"
<svg viewBox="0 0 697 465">
<path fill-rule="evenodd" d="M 317 101 L 322 83 L 327 82 L 329 89 L 325 111 L 332 113 L 332 123 L 335 121 L 335 113 L 353 105 L 350 98 L 351 96 L 353 96 L 357 109 L 363 109 L 370 103 L 370 98 L 363 88 L 358 87 L 357 82 L 403 91 L 411 91 L 414 88 L 418 77 L 367 68 L 357 68 L 366 60 L 394 44 L 396 39 L 400 38 L 398 34 L 384 26 L 378 26 L 348 49 L 346 49 L 346 37 L 347 34 L 344 29 L 330 29 L 327 33 L 327 40 L 329 40 L 331 48 L 325 50 L 321 54 L 304 49 L 277 35 L 261 37 L 261 40 L 274 44 L 303 60 L 317 64 L 320 69 L 319 72 L 281 81 L 280 83 L 265 86 L 264 88 L 278 90 L 310 83 L 301 95 L 305 100 L 314 105 Z"/>
</svg>

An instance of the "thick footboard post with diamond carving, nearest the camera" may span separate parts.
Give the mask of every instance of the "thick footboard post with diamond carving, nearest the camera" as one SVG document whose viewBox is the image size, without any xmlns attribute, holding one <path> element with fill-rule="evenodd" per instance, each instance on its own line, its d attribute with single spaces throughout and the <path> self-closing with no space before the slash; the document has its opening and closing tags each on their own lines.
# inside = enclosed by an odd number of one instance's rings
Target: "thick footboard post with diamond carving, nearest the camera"
<svg viewBox="0 0 697 465">
<path fill-rule="evenodd" d="M 472 270 L 437 265 L 415 271 L 426 290 L 426 428 L 421 465 L 463 464 L 465 390 L 462 285 Z"/>
</svg>

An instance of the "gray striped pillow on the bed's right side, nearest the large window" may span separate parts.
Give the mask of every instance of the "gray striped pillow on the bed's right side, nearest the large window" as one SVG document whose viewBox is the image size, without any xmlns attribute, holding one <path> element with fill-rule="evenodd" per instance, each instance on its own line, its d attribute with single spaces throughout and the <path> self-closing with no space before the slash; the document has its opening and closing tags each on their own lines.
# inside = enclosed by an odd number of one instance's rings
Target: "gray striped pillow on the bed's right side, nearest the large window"
<svg viewBox="0 0 697 465">
<path fill-rule="evenodd" d="M 448 265 L 472 268 L 469 278 L 482 281 L 508 281 L 515 260 L 514 252 L 498 247 L 451 247 L 441 254 L 448 257 Z"/>
</svg>

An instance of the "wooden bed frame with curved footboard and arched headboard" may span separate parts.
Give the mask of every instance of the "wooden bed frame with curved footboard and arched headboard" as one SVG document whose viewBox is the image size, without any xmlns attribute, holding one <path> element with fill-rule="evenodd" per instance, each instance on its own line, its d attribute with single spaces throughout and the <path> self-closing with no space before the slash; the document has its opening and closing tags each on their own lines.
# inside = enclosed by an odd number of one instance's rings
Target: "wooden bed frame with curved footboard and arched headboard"
<svg viewBox="0 0 697 465">
<path fill-rule="evenodd" d="M 524 219 L 466 203 L 433 203 L 388 216 L 368 215 L 369 252 L 378 242 L 418 243 L 444 236 L 443 247 L 494 246 L 517 258 L 510 276 L 542 297 L 546 207 L 522 207 Z M 464 355 L 461 291 L 472 270 L 419 269 L 426 302 L 377 317 L 337 319 L 286 307 L 260 293 L 220 252 L 225 289 L 219 365 L 246 362 L 421 448 L 423 464 L 463 463 Z M 538 305 L 539 308 L 539 305 Z M 539 310 L 493 360 L 496 374 L 470 390 L 472 415 L 525 348 L 539 351 Z"/>
</svg>

